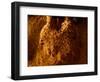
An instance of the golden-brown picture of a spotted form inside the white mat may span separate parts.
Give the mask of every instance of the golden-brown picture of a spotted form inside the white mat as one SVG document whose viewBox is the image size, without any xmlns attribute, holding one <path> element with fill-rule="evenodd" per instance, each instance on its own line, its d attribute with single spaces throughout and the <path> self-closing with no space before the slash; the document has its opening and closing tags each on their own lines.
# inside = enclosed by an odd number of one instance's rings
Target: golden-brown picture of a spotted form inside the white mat
<svg viewBox="0 0 100 82">
<path fill-rule="evenodd" d="M 87 18 L 28 15 L 28 66 L 87 64 Z"/>
</svg>

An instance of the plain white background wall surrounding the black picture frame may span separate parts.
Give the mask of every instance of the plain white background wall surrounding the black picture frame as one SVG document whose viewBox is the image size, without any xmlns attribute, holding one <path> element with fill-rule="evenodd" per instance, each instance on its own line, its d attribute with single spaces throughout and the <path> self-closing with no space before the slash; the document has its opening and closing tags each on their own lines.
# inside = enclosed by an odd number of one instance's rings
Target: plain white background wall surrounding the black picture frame
<svg viewBox="0 0 100 82">
<path fill-rule="evenodd" d="M 0 1 L 0 82 L 13 82 L 10 79 L 10 66 L 11 66 L 11 2 L 14 0 L 1 0 Z M 16 0 L 17 1 L 17 0 Z M 28 2 L 41 2 L 41 3 L 56 3 L 56 4 L 72 4 L 72 5 L 89 5 L 98 6 L 100 10 L 100 0 L 20 0 Z M 100 11 L 99 13 L 100 14 Z M 100 16 L 98 16 L 100 18 Z M 98 19 L 100 21 L 100 19 Z M 99 24 L 100 26 L 100 24 Z M 99 27 L 98 26 L 98 27 Z M 100 31 L 100 28 L 98 28 Z M 100 32 L 98 33 L 100 35 Z M 91 36 L 92 37 L 92 36 Z M 100 37 L 98 38 L 98 42 Z M 98 43 L 100 49 L 100 43 Z M 100 51 L 98 52 L 98 58 Z M 100 60 L 98 59 L 98 62 Z M 100 68 L 100 65 L 98 66 Z M 99 69 L 98 68 L 98 69 Z M 100 73 L 100 71 L 99 71 Z M 39 80 L 26 80 L 26 82 L 52 82 L 52 81 L 70 81 L 70 82 L 85 82 L 95 81 L 99 82 L 100 75 L 98 76 L 83 76 L 83 77 L 67 77 L 67 78 L 53 78 L 53 79 L 39 79 Z M 21 81 L 22 82 L 22 81 Z"/>
</svg>

